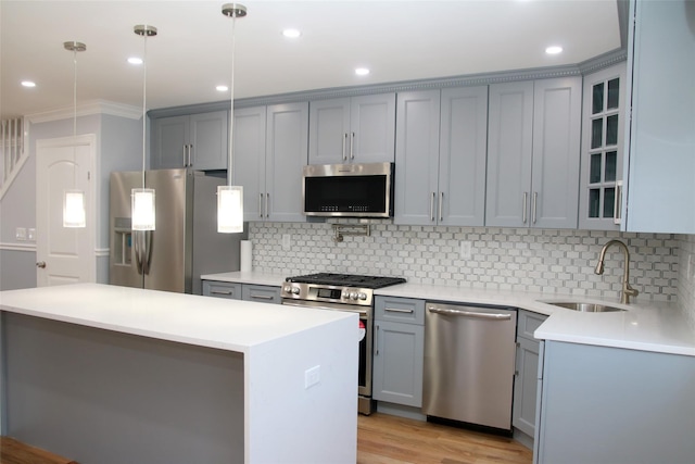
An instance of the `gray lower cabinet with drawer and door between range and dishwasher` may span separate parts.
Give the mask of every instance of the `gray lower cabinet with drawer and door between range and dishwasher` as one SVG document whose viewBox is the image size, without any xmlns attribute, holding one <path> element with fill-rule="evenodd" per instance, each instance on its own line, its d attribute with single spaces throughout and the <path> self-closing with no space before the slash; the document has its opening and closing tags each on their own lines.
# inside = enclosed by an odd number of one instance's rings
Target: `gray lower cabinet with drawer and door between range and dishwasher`
<svg viewBox="0 0 695 464">
<path fill-rule="evenodd" d="M 377 297 L 374 333 L 374 399 L 421 407 L 425 301 Z"/>
</svg>

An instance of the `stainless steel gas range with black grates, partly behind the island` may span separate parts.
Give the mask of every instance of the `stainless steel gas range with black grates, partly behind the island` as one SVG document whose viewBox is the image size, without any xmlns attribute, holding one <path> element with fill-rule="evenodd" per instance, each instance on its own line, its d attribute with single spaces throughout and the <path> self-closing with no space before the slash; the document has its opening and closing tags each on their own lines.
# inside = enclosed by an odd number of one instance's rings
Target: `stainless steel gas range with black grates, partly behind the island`
<svg viewBox="0 0 695 464">
<path fill-rule="evenodd" d="M 402 277 L 319 273 L 288 277 L 282 284 L 282 304 L 359 314 L 359 328 L 364 336 L 359 341 L 357 410 L 362 414 L 371 414 L 372 410 L 374 290 L 403 283 L 405 279 Z"/>
</svg>

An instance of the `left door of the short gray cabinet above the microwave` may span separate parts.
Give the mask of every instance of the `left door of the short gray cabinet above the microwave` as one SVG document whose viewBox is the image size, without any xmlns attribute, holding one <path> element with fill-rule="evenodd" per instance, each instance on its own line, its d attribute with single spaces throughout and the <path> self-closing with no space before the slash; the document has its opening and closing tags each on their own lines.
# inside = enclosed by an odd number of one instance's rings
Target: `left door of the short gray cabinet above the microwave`
<svg viewBox="0 0 695 464">
<path fill-rule="evenodd" d="M 309 164 L 342 164 L 350 154 L 350 99 L 311 102 Z"/>
</svg>

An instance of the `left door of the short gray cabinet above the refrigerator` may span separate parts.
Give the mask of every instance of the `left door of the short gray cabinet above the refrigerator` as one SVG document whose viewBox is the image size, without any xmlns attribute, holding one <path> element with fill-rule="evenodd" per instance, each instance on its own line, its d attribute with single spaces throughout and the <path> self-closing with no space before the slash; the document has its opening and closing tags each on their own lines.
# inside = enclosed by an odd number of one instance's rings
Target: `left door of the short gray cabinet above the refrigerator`
<svg viewBox="0 0 695 464">
<path fill-rule="evenodd" d="M 150 166 L 153 170 L 186 167 L 190 131 L 189 116 L 159 117 L 152 121 Z"/>
</svg>

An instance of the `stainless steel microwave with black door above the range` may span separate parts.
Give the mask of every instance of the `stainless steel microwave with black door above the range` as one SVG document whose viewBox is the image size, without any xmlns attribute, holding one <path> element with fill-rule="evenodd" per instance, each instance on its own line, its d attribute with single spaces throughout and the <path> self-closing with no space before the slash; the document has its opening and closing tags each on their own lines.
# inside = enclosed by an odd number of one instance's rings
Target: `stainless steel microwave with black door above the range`
<svg viewBox="0 0 695 464">
<path fill-rule="evenodd" d="M 304 214 L 328 217 L 393 217 L 393 163 L 304 166 Z"/>
</svg>

